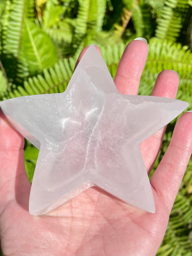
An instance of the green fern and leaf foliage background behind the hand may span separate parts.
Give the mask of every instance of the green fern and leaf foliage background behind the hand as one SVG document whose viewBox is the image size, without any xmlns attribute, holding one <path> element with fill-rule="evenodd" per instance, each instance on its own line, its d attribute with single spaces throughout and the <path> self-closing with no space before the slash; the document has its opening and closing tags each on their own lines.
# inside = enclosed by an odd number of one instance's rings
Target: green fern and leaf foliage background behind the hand
<svg viewBox="0 0 192 256">
<path fill-rule="evenodd" d="M 189 102 L 192 83 L 191 0 L 0 0 L 0 100 L 63 92 L 83 47 L 97 44 L 114 77 L 124 48 L 148 40 L 140 94 L 150 94 L 159 72 L 180 77 L 178 99 Z M 174 127 L 166 131 L 161 152 Z M 33 179 L 38 150 L 26 141 L 25 164 Z M 157 255 L 192 255 L 192 160 L 187 167 Z"/>
</svg>

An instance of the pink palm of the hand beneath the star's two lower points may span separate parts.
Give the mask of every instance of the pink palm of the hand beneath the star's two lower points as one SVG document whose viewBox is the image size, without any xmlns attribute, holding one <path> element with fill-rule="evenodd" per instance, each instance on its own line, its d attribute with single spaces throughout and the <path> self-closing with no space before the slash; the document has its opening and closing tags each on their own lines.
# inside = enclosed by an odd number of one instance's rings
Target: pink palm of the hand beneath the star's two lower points
<svg viewBox="0 0 192 256">
<path fill-rule="evenodd" d="M 90 188 L 43 217 L 11 202 L 2 214 L 5 255 L 155 255 L 168 220 L 155 199 L 150 214 Z"/>
</svg>

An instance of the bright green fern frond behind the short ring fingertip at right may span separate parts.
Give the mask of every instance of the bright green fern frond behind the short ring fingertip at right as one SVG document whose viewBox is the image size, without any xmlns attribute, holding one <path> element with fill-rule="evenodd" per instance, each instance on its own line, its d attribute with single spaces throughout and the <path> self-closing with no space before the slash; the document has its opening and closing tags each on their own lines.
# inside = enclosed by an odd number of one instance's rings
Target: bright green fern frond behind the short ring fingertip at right
<svg viewBox="0 0 192 256">
<path fill-rule="evenodd" d="M 149 41 L 149 54 L 141 76 L 140 94 L 150 94 L 157 75 L 165 69 L 179 74 L 180 85 L 177 98 L 192 105 L 192 53 L 178 43 L 153 38 Z"/>
</svg>

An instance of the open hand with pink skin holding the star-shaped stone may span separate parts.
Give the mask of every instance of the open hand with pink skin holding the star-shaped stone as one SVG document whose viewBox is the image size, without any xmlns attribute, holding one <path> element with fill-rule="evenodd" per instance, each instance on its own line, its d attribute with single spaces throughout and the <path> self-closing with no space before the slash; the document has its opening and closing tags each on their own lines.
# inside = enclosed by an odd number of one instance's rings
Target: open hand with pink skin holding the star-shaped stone
<svg viewBox="0 0 192 256">
<path fill-rule="evenodd" d="M 86 51 L 86 48 L 81 53 Z M 98 49 L 99 51 L 99 49 Z M 148 46 L 127 45 L 115 84 L 137 94 Z M 78 60 L 79 61 L 79 60 Z M 152 95 L 174 98 L 178 75 L 159 74 Z M 150 173 L 165 129 L 142 142 Z M 4 255 L 155 255 L 165 234 L 174 199 L 192 150 L 192 113 L 183 114 L 161 163 L 150 180 L 156 212 L 148 213 L 92 187 L 43 215 L 28 212 L 30 183 L 23 159 L 24 140 L 0 113 L 0 237 Z"/>
</svg>

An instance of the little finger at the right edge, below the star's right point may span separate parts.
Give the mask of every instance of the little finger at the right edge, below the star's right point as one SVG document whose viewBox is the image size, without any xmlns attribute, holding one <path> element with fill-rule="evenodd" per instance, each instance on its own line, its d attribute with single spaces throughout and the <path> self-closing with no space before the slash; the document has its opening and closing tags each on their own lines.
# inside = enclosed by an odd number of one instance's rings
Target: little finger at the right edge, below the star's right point
<svg viewBox="0 0 192 256">
<path fill-rule="evenodd" d="M 151 186 L 170 213 L 192 152 L 192 113 L 183 114 L 173 131 L 170 146 L 151 178 Z"/>
</svg>

